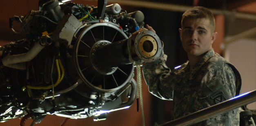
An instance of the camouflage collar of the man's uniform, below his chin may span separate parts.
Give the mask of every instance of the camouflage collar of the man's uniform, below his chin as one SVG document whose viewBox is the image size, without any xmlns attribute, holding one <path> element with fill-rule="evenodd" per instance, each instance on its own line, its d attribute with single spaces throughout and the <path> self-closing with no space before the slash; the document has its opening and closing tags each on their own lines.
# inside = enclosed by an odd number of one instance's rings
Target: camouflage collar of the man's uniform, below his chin
<svg viewBox="0 0 256 126">
<path fill-rule="evenodd" d="M 212 57 L 212 55 L 214 55 L 214 49 L 211 49 L 210 51 L 208 51 L 194 66 L 193 69 L 190 70 L 190 77 L 189 79 L 193 79 L 196 75 L 196 73 L 198 72 L 198 70 L 201 68 L 201 66 L 203 66 L 203 64 L 205 64 L 205 62 L 207 62 L 207 60 L 209 60 L 210 57 Z M 189 64 L 187 65 L 189 67 Z"/>
</svg>

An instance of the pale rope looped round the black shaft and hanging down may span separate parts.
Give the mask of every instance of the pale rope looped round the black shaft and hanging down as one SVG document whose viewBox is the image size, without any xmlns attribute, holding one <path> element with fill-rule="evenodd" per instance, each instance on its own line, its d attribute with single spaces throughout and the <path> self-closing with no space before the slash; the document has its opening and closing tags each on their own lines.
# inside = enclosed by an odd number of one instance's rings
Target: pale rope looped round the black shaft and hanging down
<svg viewBox="0 0 256 126">
<path fill-rule="evenodd" d="M 136 91 L 136 95 L 137 95 L 137 99 L 140 97 L 140 108 L 141 108 L 141 115 L 142 115 L 142 124 L 143 124 L 143 126 L 145 126 L 143 102 L 142 102 L 142 82 L 141 82 L 141 72 L 140 72 L 140 66 L 142 66 L 142 62 L 135 61 L 131 57 L 131 36 L 128 38 L 127 46 L 128 46 L 128 53 L 129 53 L 129 61 L 134 64 L 134 67 L 136 67 L 136 71 L 137 71 L 137 91 Z"/>
</svg>

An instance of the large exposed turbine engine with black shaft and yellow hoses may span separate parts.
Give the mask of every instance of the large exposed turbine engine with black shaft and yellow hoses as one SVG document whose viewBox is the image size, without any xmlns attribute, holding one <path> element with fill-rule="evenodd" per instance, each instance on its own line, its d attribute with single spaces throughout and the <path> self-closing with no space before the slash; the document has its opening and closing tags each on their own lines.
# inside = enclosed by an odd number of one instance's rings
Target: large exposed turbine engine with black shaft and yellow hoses
<svg viewBox="0 0 256 126">
<path fill-rule="evenodd" d="M 0 122 L 23 116 L 38 122 L 47 114 L 98 121 L 132 105 L 136 82 L 128 57 L 153 62 L 162 44 L 143 31 L 129 53 L 127 36 L 144 26 L 144 15 L 106 1 L 93 7 L 40 0 L 38 11 L 10 18 L 24 39 L 0 48 Z"/>
</svg>

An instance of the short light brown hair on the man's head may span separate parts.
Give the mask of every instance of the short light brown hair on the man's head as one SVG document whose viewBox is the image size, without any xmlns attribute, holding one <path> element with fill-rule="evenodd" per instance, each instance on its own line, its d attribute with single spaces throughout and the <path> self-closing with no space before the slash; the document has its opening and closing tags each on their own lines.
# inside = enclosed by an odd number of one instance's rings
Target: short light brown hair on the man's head
<svg viewBox="0 0 256 126">
<path fill-rule="evenodd" d="M 211 13 L 211 11 L 205 7 L 192 7 L 190 9 L 188 9 L 187 11 L 185 11 L 185 13 L 183 13 L 182 15 L 182 20 L 181 20 L 181 27 L 183 27 L 184 23 L 186 20 L 188 19 L 198 19 L 198 18 L 207 18 L 210 20 L 210 24 L 212 25 L 212 33 L 215 30 L 215 18 L 213 13 Z"/>
</svg>

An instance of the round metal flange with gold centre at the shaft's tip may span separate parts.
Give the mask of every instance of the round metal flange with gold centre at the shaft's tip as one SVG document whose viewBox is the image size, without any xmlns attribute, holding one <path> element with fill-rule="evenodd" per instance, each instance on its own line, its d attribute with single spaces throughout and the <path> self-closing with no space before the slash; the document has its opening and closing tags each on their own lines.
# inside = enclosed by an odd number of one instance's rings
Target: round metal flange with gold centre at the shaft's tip
<svg viewBox="0 0 256 126">
<path fill-rule="evenodd" d="M 162 53 L 160 38 L 153 31 L 140 32 L 134 41 L 135 52 L 145 62 L 158 60 Z"/>
</svg>

